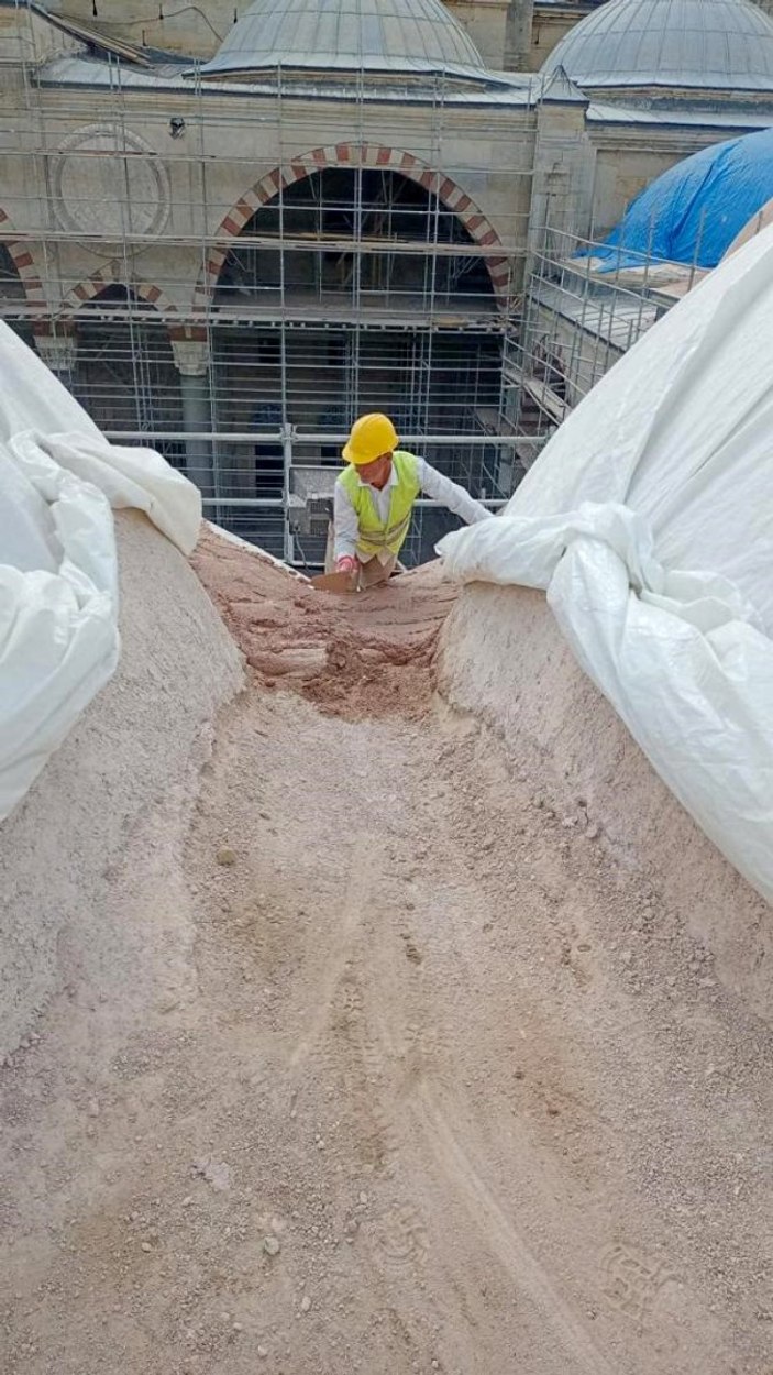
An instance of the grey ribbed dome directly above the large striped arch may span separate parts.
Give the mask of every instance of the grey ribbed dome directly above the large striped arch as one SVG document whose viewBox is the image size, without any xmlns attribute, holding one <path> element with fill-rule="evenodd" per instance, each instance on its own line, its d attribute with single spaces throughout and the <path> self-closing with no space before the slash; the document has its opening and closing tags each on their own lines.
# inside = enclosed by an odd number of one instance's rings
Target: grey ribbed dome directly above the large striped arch
<svg viewBox="0 0 773 1375">
<path fill-rule="evenodd" d="M 256 0 L 202 76 L 275 70 L 484 77 L 480 52 L 442 0 Z"/>
</svg>

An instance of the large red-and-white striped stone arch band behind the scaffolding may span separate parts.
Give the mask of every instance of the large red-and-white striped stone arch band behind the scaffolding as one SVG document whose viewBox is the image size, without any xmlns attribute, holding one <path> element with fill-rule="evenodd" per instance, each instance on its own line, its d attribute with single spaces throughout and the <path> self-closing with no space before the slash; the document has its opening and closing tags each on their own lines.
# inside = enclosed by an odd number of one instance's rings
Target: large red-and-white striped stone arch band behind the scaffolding
<svg viewBox="0 0 773 1375">
<path fill-rule="evenodd" d="M 292 158 L 286 166 L 274 168 L 250 187 L 231 206 L 220 221 L 216 239 L 237 239 L 253 214 L 268 205 L 286 187 L 304 177 L 322 172 L 325 168 L 381 168 L 399 172 L 402 176 L 424 187 L 431 195 L 437 195 L 458 217 L 470 238 L 480 248 L 490 248 L 484 258 L 494 296 L 498 301 L 508 300 L 510 292 L 510 264 L 503 245 L 491 221 L 475 204 L 470 195 L 444 172 L 435 172 L 413 153 L 389 148 L 381 143 L 334 143 L 323 148 L 312 148 L 301 157 Z M 194 293 L 194 307 L 206 309 L 212 302 L 217 279 L 228 256 L 228 245 L 210 248 Z"/>
</svg>

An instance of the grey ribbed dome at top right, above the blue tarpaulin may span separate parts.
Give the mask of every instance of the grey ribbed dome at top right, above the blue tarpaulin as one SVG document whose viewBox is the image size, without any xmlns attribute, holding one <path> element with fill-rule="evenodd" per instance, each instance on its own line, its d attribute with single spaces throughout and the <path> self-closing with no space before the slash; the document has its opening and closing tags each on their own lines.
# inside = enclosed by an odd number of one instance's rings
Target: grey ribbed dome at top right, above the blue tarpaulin
<svg viewBox="0 0 773 1375">
<path fill-rule="evenodd" d="M 583 89 L 773 91 L 773 21 L 750 0 L 608 0 L 553 48 Z"/>
</svg>

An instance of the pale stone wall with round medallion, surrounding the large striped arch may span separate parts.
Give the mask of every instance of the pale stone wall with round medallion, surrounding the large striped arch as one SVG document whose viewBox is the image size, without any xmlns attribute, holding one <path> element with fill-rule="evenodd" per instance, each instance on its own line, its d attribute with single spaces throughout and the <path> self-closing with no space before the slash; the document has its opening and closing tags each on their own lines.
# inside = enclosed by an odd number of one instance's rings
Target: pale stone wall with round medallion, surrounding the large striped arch
<svg viewBox="0 0 773 1375">
<path fill-rule="evenodd" d="M 110 194 L 111 179 L 124 173 L 131 182 L 129 228 L 144 238 L 142 252 L 128 249 L 138 289 L 165 311 L 202 304 L 198 293 L 216 272 L 202 264 L 201 241 L 234 236 L 276 192 L 271 177 L 279 165 L 290 180 L 298 166 L 362 161 L 392 168 L 436 190 L 473 239 L 491 245 L 492 261 L 501 250 L 523 250 L 525 243 L 534 157 L 527 109 L 448 106 L 439 140 L 433 113 L 422 106 L 297 99 L 283 106 L 279 122 L 270 96 L 131 91 L 116 129 L 109 91 L 45 89 L 39 104 L 43 146 L 51 155 L 32 148 L 29 158 L 0 153 L 0 210 L 32 241 L 25 254 L 51 308 L 77 308 L 125 276 L 122 208 L 117 192 Z M 177 139 L 169 111 L 186 121 Z M 243 124 L 234 118 L 242 111 Z M 111 161 L 110 147 L 125 146 L 129 157 Z M 95 157 L 98 151 L 105 155 Z M 241 202 L 249 213 L 237 209 Z M 102 242 L 89 245 L 87 235 L 95 232 Z M 216 267 L 216 257 L 206 261 Z M 498 270 L 503 279 L 506 264 Z"/>
</svg>

